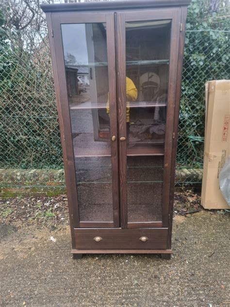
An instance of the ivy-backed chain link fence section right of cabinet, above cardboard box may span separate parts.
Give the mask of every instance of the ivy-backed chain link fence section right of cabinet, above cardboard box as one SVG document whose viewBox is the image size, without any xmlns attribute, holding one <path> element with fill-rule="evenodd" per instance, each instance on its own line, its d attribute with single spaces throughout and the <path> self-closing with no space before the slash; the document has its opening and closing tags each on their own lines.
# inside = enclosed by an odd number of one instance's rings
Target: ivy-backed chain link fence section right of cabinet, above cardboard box
<svg viewBox="0 0 230 307">
<path fill-rule="evenodd" d="M 230 31 L 186 31 L 177 165 L 202 168 L 205 83 L 230 78 Z"/>
</svg>

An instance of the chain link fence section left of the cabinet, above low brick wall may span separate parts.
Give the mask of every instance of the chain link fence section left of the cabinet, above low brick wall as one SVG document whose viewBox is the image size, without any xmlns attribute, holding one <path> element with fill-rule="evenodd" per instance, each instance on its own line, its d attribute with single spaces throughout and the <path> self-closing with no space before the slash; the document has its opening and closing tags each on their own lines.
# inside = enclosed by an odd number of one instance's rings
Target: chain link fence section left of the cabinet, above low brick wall
<svg viewBox="0 0 230 307">
<path fill-rule="evenodd" d="M 1 168 L 63 167 L 49 41 L 36 35 L 29 51 L 9 48 L 10 37 L 1 54 Z"/>
</svg>

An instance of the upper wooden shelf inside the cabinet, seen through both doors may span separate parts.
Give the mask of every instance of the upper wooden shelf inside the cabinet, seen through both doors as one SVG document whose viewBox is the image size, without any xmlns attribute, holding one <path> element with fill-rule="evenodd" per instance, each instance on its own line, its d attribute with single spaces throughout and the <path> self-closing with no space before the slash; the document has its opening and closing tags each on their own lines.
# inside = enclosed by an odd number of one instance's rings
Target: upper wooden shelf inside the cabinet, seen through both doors
<svg viewBox="0 0 230 307">
<path fill-rule="evenodd" d="M 164 107 L 167 106 L 167 102 L 153 102 L 153 101 L 133 101 L 130 102 L 130 108 L 151 108 L 151 107 Z M 69 105 L 70 110 L 82 110 L 82 109 L 105 109 L 107 102 L 82 102 L 77 105 Z"/>
</svg>

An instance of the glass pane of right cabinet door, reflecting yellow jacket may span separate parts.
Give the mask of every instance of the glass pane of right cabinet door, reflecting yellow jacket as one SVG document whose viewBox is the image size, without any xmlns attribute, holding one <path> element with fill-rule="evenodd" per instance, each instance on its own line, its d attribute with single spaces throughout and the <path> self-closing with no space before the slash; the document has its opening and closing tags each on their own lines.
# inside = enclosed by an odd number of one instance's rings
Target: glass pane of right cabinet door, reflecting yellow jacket
<svg viewBox="0 0 230 307">
<path fill-rule="evenodd" d="M 160 222 L 171 20 L 125 28 L 128 222 Z"/>
</svg>

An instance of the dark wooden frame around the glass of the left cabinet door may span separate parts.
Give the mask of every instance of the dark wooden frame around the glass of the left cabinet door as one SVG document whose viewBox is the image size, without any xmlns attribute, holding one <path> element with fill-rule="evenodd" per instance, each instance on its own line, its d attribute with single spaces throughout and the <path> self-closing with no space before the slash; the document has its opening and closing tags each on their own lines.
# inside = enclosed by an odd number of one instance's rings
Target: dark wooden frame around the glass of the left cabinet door
<svg viewBox="0 0 230 307">
<path fill-rule="evenodd" d="M 50 43 L 50 53 L 53 67 L 54 86 L 57 100 L 57 110 L 62 141 L 66 190 L 69 207 L 69 218 L 72 244 L 74 228 L 78 227 L 119 227 L 119 198 L 118 198 L 118 154 L 117 154 L 117 115 L 116 115 L 116 77 L 115 77 L 115 25 L 113 12 L 69 12 L 46 13 Z M 62 44 L 61 24 L 63 23 L 106 23 L 106 43 L 108 55 L 109 96 L 110 96 L 110 133 L 112 192 L 113 192 L 113 222 L 81 222 L 79 216 L 77 180 L 75 175 L 74 150 L 66 87 L 66 72 Z M 75 248 L 72 246 L 72 248 Z"/>
</svg>

